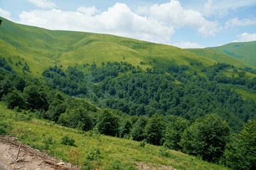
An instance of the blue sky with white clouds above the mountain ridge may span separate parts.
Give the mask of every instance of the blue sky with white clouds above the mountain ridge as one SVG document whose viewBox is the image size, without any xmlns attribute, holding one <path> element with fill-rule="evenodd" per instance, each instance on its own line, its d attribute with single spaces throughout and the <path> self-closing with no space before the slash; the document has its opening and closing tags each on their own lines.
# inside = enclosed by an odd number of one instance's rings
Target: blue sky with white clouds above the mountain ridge
<svg viewBox="0 0 256 170">
<path fill-rule="evenodd" d="M 255 0 L 0 0 L 0 16 L 181 48 L 256 40 Z"/>
</svg>

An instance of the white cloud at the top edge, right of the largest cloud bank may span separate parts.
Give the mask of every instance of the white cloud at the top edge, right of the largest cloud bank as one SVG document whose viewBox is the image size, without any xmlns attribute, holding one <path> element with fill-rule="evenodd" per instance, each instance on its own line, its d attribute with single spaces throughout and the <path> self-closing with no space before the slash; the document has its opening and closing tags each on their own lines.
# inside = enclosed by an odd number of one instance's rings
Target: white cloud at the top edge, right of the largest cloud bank
<svg viewBox="0 0 256 170">
<path fill-rule="evenodd" d="M 218 22 L 206 20 L 198 11 L 184 9 L 176 0 L 166 4 L 139 7 L 138 13 L 174 28 L 190 26 L 205 36 L 215 35 L 221 29 Z"/>
</svg>

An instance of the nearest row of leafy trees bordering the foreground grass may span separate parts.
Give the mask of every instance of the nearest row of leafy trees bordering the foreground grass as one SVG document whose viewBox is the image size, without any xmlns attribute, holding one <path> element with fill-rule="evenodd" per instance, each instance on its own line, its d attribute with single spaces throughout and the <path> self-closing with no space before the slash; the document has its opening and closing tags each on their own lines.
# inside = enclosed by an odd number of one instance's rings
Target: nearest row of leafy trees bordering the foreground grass
<svg viewBox="0 0 256 170">
<path fill-rule="evenodd" d="M 174 78 L 168 77 L 174 83 Z M 128 115 L 110 108 L 97 109 L 84 99 L 65 96 L 41 84 L 38 79 L 1 72 L 0 80 L 1 100 L 17 112 L 24 109 L 37 118 L 70 128 L 137 140 L 142 147 L 145 143 L 163 145 L 233 169 L 255 168 L 255 142 L 251 140 L 255 139 L 255 121 L 249 121 L 240 135 L 233 138 L 228 124 L 213 113 L 196 120 L 156 113 L 150 118 Z"/>
</svg>

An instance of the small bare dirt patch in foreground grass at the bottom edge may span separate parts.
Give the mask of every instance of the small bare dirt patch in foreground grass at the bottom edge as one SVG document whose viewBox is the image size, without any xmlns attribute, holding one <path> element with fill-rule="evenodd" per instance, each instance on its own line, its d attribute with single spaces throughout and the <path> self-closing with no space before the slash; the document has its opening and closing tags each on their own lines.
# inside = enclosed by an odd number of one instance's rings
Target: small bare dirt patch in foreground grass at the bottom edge
<svg viewBox="0 0 256 170">
<path fill-rule="evenodd" d="M 144 162 L 135 162 L 137 164 L 137 169 L 139 170 L 161 170 L 161 169 L 168 169 L 168 170 L 178 170 L 174 169 L 172 166 L 166 166 L 161 164 L 152 164 L 152 163 L 144 163 Z"/>
</svg>

